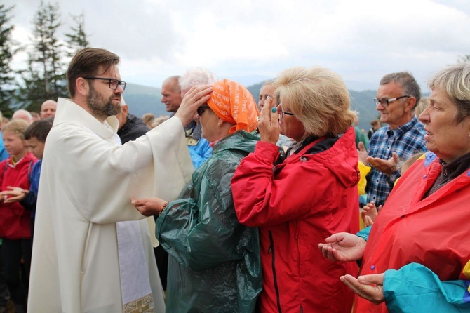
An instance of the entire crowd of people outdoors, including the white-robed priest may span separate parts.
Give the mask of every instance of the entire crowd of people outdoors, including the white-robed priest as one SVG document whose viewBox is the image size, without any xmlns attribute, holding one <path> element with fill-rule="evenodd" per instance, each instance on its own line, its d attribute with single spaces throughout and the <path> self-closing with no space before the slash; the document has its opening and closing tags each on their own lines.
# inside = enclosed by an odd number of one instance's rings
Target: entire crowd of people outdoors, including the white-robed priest
<svg viewBox="0 0 470 313">
<path fill-rule="evenodd" d="M 119 56 L 2 124 L 0 307 L 16 312 L 470 312 L 470 64 L 386 74 L 367 132 L 341 76 L 255 102 L 189 69 L 131 114 Z M 37 120 L 35 120 L 37 119 Z"/>
</svg>

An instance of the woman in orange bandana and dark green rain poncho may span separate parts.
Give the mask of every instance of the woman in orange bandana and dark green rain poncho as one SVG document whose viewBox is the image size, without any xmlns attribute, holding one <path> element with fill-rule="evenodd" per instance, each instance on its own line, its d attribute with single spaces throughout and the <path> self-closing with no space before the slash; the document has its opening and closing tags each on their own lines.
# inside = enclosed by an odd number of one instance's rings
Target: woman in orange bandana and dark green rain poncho
<svg viewBox="0 0 470 313">
<path fill-rule="evenodd" d="M 257 229 L 239 224 L 230 180 L 253 152 L 257 106 L 250 92 L 224 79 L 199 107 L 202 137 L 213 155 L 192 175 L 180 199 L 134 200 L 159 215 L 156 237 L 170 254 L 167 312 L 253 312 L 262 288 Z"/>
</svg>

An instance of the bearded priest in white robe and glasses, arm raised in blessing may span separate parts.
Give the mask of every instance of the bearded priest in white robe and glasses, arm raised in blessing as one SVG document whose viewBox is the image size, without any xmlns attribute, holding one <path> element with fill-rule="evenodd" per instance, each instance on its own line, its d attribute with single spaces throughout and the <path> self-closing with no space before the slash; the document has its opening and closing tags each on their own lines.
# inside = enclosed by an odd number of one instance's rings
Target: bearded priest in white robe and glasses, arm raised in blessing
<svg viewBox="0 0 470 313">
<path fill-rule="evenodd" d="M 184 125 L 211 88 L 193 88 L 172 119 L 120 145 L 118 64 L 86 48 L 67 70 L 72 99 L 59 98 L 43 154 L 30 312 L 165 311 L 151 221 L 130 201 L 177 198 L 193 171 Z"/>
</svg>

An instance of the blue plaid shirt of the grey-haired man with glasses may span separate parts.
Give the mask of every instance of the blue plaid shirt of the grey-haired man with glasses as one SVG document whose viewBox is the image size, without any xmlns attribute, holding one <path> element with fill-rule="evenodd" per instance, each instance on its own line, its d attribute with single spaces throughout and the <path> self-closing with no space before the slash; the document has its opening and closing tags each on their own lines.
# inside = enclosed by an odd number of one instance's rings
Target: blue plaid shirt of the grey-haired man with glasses
<svg viewBox="0 0 470 313">
<path fill-rule="evenodd" d="M 426 151 L 424 126 L 416 116 L 407 124 L 393 130 L 388 125 L 380 128 L 370 138 L 368 149 L 369 156 L 384 160 L 390 159 L 391 153 L 396 152 L 402 161 L 415 153 Z M 395 180 L 400 176 L 399 170 L 388 176 L 372 167 L 368 175 L 368 202 L 374 201 L 377 206 L 383 205 L 394 187 Z"/>
</svg>

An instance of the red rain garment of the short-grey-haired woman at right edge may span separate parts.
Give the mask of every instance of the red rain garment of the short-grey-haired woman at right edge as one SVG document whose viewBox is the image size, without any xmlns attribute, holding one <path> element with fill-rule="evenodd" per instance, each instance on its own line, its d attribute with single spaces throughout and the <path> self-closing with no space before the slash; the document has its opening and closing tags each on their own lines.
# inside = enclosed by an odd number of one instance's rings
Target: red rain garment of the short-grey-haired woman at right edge
<svg viewBox="0 0 470 313">
<path fill-rule="evenodd" d="M 470 260 L 470 171 L 421 200 L 439 173 L 441 164 L 429 152 L 400 178 L 372 226 L 361 274 L 417 262 L 441 281 L 466 279 L 462 270 Z M 373 305 L 362 298 L 356 299 L 354 311 L 388 312 L 384 303 Z"/>
</svg>

